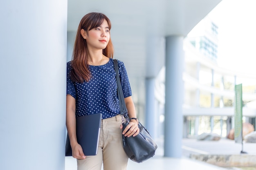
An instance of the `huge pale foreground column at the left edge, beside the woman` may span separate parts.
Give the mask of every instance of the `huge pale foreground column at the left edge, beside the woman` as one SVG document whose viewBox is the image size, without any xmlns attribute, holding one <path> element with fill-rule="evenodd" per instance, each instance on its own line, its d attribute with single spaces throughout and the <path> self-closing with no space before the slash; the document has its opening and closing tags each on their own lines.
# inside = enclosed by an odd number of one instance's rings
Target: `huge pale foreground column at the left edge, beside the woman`
<svg viewBox="0 0 256 170">
<path fill-rule="evenodd" d="M 0 169 L 64 170 L 67 0 L 0 4 Z"/>
</svg>

